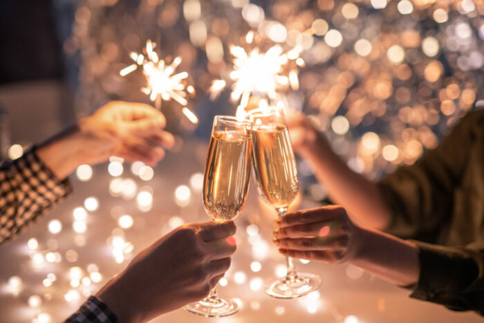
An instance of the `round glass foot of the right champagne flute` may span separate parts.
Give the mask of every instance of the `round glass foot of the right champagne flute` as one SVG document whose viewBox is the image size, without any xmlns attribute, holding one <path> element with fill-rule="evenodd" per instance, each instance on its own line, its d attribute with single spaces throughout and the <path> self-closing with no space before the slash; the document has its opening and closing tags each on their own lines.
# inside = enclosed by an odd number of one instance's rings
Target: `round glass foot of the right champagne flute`
<svg viewBox="0 0 484 323">
<path fill-rule="evenodd" d="M 317 275 L 297 273 L 295 277 L 274 278 L 269 282 L 266 293 L 275 298 L 296 298 L 311 293 L 321 285 Z"/>
</svg>

